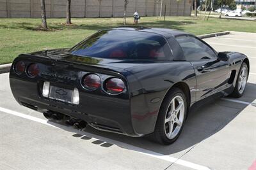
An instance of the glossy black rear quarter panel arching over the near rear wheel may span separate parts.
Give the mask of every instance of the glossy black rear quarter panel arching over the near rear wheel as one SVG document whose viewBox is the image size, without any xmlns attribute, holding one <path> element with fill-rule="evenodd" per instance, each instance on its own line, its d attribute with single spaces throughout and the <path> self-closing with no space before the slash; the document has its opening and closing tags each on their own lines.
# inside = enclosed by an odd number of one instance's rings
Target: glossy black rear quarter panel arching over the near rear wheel
<svg viewBox="0 0 256 170">
<path fill-rule="evenodd" d="M 144 64 L 127 70 L 134 75 L 128 81 L 132 124 L 138 134 L 154 132 L 161 103 L 175 83 L 186 83 L 191 104 L 195 102 L 196 78 L 190 62 Z"/>
</svg>

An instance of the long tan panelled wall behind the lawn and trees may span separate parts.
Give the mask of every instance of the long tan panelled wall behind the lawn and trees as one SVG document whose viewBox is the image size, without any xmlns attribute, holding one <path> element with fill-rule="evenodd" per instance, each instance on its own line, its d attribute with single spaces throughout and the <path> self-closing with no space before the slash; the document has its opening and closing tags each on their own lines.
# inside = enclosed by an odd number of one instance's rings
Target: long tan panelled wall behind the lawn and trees
<svg viewBox="0 0 256 170">
<path fill-rule="evenodd" d="M 45 0 L 48 18 L 66 17 L 66 0 Z M 123 17 L 124 0 L 72 0 L 71 13 L 75 18 Z M 157 7 L 158 9 L 156 9 Z M 166 16 L 190 16 L 190 0 L 163 0 Z M 161 0 L 129 0 L 127 16 L 134 11 L 141 16 L 156 16 Z M 0 0 L 0 18 L 40 18 L 40 0 Z"/>
</svg>

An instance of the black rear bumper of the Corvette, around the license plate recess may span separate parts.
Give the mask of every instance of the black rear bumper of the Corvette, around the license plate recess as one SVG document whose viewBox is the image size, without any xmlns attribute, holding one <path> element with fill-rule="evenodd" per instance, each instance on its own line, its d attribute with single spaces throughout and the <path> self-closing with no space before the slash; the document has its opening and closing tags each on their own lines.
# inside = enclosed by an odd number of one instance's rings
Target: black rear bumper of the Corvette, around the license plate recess
<svg viewBox="0 0 256 170">
<path fill-rule="evenodd" d="M 70 117 L 84 120 L 95 129 L 110 131 L 127 136 L 138 134 L 132 125 L 129 99 L 97 96 L 79 91 L 80 104 L 68 104 L 40 95 L 42 83 L 22 80 L 10 74 L 10 86 L 13 96 L 23 106 L 36 111 L 54 111 Z"/>
</svg>

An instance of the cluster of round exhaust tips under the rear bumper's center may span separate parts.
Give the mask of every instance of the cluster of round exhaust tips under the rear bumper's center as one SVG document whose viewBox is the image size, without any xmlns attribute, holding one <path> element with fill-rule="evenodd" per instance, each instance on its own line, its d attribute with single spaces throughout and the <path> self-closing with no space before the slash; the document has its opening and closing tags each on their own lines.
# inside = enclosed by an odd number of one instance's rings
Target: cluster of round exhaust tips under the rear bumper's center
<svg viewBox="0 0 256 170">
<path fill-rule="evenodd" d="M 86 126 L 87 126 L 87 123 L 84 122 L 83 120 L 79 120 L 79 119 L 76 119 L 76 118 L 70 118 L 66 115 L 63 115 L 61 113 L 56 113 L 56 112 L 53 112 L 53 111 L 46 111 L 43 113 L 44 114 L 44 117 L 47 118 L 47 119 L 53 119 L 55 120 L 56 122 L 65 122 L 66 125 L 68 126 L 72 126 L 74 127 L 75 129 L 85 129 Z"/>
</svg>

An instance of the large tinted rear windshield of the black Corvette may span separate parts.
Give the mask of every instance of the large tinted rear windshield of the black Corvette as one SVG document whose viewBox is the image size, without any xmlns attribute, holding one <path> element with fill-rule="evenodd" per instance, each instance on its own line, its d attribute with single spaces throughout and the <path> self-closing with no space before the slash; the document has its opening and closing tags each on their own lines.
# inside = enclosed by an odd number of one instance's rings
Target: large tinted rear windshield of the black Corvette
<svg viewBox="0 0 256 170">
<path fill-rule="evenodd" d="M 162 36 L 121 29 L 97 32 L 71 48 L 70 53 L 106 59 L 170 59 L 168 44 Z"/>
</svg>

